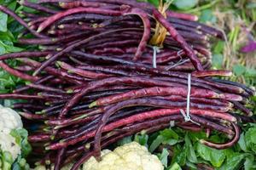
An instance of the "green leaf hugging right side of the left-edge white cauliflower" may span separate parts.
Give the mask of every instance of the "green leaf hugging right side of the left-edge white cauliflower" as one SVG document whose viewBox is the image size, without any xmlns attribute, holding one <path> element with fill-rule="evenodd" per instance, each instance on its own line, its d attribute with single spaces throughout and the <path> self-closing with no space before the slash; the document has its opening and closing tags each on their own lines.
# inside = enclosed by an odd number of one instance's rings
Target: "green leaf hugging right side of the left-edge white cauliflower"
<svg viewBox="0 0 256 170">
<path fill-rule="evenodd" d="M 28 133 L 25 128 L 12 130 L 10 135 L 15 138 L 15 142 L 20 145 L 22 157 L 28 156 L 32 147 L 27 141 Z"/>
</svg>

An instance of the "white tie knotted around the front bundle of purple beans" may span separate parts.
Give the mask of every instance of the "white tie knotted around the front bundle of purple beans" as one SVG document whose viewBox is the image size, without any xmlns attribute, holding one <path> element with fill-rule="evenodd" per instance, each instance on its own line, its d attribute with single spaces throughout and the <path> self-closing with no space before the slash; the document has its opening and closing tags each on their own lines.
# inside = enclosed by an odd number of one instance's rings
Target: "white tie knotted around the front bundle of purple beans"
<svg viewBox="0 0 256 170">
<path fill-rule="evenodd" d="M 185 122 L 193 122 L 197 125 L 200 125 L 198 122 L 195 122 L 191 119 L 190 117 L 190 91 L 191 91 L 191 74 L 188 74 L 188 94 L 187 94 L 187 108 L 186 108 L 186 113 L 182 109 L 179 111 L 184 117 Z"/>
</svg>

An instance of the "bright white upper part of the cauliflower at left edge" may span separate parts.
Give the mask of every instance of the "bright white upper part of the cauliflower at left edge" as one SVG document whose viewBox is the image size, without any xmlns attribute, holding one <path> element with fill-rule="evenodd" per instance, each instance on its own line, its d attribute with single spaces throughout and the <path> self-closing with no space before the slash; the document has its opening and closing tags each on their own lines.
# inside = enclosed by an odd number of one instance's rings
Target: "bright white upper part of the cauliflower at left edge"
<svg viewBox="0 0 256 170">
<path fill-rule="evenodd" d="M 22 127 L 20 115 L 16 111 L 0 105 L 0 132 L 9 134 L 13 129 Z"/>
</svg>

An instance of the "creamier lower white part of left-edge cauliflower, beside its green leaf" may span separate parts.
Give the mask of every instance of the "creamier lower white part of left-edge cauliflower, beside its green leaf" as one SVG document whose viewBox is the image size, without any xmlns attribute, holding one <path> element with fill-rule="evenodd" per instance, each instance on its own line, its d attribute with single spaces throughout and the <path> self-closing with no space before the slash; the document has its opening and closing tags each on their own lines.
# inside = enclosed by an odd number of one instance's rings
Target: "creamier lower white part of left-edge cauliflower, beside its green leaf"
<svg viewBox="0 0 256 170">
<path fill-rule="evenodd" d="M 20 155 L 20 146 L 15 142 L 15 138 L 7 133 L 0 132 L 0 150 L 9 151 L 13 160 Z"/>
</svg>

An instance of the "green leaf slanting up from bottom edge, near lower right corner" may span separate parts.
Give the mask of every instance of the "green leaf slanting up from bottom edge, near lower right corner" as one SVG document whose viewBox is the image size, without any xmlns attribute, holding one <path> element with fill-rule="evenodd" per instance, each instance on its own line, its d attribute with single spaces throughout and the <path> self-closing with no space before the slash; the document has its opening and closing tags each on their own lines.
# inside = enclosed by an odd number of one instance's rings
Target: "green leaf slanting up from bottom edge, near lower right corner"
<svg viewBox="0 0 256 170">
<path fill-rule="evenodd" d="M 244 154 L 241 153 L 234 154 L 233 156 L 229 157 L 229 159 L 227 159 L 227 161 L 222 167 L 219 168 L 219 170 L 237 169 L 238 167 L 240 167 L 240 163 L 244 157 Z"/>
</svg>

